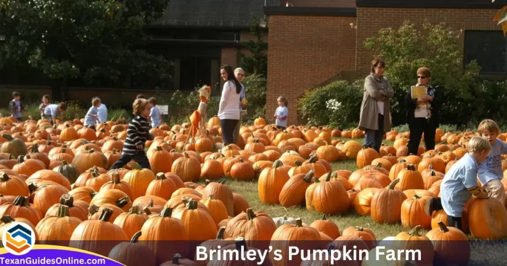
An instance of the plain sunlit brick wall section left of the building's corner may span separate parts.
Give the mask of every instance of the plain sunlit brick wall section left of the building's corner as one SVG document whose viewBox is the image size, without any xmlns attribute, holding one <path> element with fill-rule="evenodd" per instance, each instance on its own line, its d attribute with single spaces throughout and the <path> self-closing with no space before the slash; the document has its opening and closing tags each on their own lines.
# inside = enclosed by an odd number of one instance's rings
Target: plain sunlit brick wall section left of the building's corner
<svg viewBox="0 0 507 266">
<path fill-rule="evenodd" d="M 276 99 L 289 100 L 288 124 L 297 121 L 297 99 L 306 90 L 355 66 L 353 17 L 270 16 L 266 118 Z M 304 123 L 304 122 L 299 122 Z M 299 124 L 298 123 L 298 124 Z"/>
</svg>

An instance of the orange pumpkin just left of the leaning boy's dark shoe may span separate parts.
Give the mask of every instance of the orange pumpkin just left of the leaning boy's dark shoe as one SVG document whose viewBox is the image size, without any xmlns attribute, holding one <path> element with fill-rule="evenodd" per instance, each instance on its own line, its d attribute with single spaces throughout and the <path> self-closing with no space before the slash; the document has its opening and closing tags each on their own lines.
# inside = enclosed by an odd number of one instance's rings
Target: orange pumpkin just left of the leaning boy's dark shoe
<svg viewBox="0 0 507 266">
<path fill-rule="evenodd" d="M 405 228 L 420 225 L 423 229 L 431 229 L 431 217 L 424 211 L 428 197 L 407 198 L 402 204 L 402 225 Z"/>
</svg>

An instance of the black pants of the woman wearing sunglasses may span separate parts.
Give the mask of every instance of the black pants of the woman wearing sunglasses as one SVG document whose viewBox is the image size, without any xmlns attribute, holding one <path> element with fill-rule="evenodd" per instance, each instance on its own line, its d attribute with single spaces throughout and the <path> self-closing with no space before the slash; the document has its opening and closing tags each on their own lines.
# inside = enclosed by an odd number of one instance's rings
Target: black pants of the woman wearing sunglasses
<svg viewBox="0 0 507 266">
<path fill-rule="evenodd" d="M 435 131 L 437 128 L 429 122 L 430 120 L 425 118 L 415 118 L 412 123 L 409 123 L 410 139 L 407 143 L 409 155 L 417 155 L 422 133 L 424 133 L 426 151 L 435 148 Z"/>
</svg>

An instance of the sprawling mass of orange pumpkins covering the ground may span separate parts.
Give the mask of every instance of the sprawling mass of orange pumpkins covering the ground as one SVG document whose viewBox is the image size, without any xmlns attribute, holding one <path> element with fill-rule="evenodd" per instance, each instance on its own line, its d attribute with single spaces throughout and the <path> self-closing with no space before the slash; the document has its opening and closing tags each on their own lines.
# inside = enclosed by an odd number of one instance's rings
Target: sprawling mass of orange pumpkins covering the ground
<svg viewBox="0 0 507 266">
<path fill-rule="evenodd" d="M 241 245 L 265 248 L 264 242 L 271 241 L 275 249 L 286 249 L 287 240 L 302 240 L 298 237 L 304 234 L 305 240 L 325 243 L 315 248 L 356 245 L 373 249 L 376 245 L 375 234 L 363 227 L 351 226 L 340 233 L 325 218 L 306 225 L 298 219 L 272 218 L 251 210 L 248 201 L 221 179 L 227 176 L 258 178 L 259 197 L 268 204 L 306 204 L 309 210 L 324 214 L 353 208 L 377 222 L 401 220 L 404 226 L 413 227 L 410 236 L 402 232 L 397 239 L 425 240 L 421 245 L 441 238 L 466 240 L 463 232 L 446 227 L 445 213 L 434 213 L 434 219 L 421 216 L 423 199 L 439 194 L 446 167 L 464 154 L 454 144 L 439 145 L 438 151 L 423 150 L 422 158 L 407 156 L 398 152 L 406 145 L 406 134 L 396 133 L 394 146 L 383 146 L 379 155 L 356 141 L 332 139 L 342 136 L 340 130 L 291 126 L 280 131 L 258 119 L 255 125 L 241 128 L 238 145 L 213 152 L 215 144 L 222 142 L 214 117 L 207 123 L 208 135 L 197 139 L 188 138 L 189 124 L 151 129 L 156 137 L 146 146 L 152 170 L 131 162 L 107 171 L 120 157 L 127 125 L 107 122 L 95 132 L 83 127 L 80 120 L 52 127 L 47 120 L 13 123 L 9 119 L 0 119 L 0 233 L 12 221 L 26 222 L 39 241 L 72 240 L 70 246 L 127 265 L 169 265 L 194 258 L 188 247 L 167 249 L 157 241 L 206 241 L 202 245 L 222 243 L 223 248 L 233 249 Z M 364 136 L 358 129 L 352 132 L 354 137 Z M 462 134 L 457 142 L 469 137 Z M 457 138 L 455 135 L 453 141 Z M 360 170 L 332 171 L 330 163 L 347 158 L 356 160 Z M 206 182 L 196 183 L 200 178 Z M 400 205 L 400 212 L 393 204 Z M 492 232 L 494 226 L 475 231 L 478 223 L 492 219 L 487 208 L 499 211 L 495 204 L 476 199 L 467 204 L 472 234 L 503 236 Z M 421 227 L 433 229 L 424 236 L 418 233 Z M 131 243 L 106 247 L 80 242 L 129 239 Z M 221 241 L 232 242 L 225 245 Z M 434 246 L 427 252 L 438 262 L 468 259 L 462 256 L 462 248 L 459 256 L 452 250 L 451 246 Z M 139 253 L 152 255 L 136 255 Z"/>
</svg>

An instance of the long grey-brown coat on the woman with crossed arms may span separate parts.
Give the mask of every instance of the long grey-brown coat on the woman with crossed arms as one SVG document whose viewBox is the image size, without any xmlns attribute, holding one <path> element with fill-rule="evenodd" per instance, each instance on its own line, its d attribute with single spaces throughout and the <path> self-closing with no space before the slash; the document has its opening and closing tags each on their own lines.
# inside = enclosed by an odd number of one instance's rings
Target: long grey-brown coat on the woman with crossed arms
<svg viewBox="0 0 507 266">
<path fill-rule="evenodd" d="M 377 100 L 384 101 L 384 132 L 391 130 L 389 99 L 394 96 L 394 90 L 389 81 L 381 77 L 377 79 L 375 74 L 370 74 L 365 79 L 365 92 L 361 112 L 359 115 L 359 129 L 378 130 L 379 108 Z"/>
</svg>

